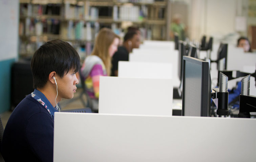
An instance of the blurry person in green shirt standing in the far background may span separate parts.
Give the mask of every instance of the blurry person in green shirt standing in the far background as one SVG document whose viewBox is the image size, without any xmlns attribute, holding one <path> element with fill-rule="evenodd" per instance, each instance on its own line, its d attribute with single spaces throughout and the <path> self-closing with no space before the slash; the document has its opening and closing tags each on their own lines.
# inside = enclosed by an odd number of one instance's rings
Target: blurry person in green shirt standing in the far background
<svg viewBox="0 0 256 162">
<path fill-rule="evenodd" d="M 179 40 L 185 40 L 185 25 L 180 22 L 180 15 L 175 14 L 173 16 L 173 22 L 170 25 L 170 37 L 174 40 L 174 34 L 179 36 Z"/>
</svg>

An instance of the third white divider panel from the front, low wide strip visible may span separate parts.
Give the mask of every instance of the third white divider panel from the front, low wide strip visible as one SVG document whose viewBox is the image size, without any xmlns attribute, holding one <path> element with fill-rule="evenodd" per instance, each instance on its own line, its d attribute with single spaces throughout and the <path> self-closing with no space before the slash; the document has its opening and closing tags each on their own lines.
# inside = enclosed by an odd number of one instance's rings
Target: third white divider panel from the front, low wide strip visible
<svg viewBox="0 0 256 162">
<path fill-rule="evenodd" d="M 119 77 L 172 79 L 171 63 L 118 62 Z"/>
</svg>

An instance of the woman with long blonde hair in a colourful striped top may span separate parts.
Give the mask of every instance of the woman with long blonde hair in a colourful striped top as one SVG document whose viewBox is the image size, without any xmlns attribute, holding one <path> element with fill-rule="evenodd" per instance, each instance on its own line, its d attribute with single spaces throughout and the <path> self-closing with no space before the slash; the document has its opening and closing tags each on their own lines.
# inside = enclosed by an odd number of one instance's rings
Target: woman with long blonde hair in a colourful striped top
<svg viewBox="0 0 256 162">
<path fill-rule="evenodd" d="M 86 57 L 81 68 L 94 112 L 97 112 L 99 105 L 100 76 L 110 75 L 111 59 L 117 51 L 119 41 L 120 37 L 111 29 L 102 28 L 95 40 L 91 55 Z"/>
</svg>

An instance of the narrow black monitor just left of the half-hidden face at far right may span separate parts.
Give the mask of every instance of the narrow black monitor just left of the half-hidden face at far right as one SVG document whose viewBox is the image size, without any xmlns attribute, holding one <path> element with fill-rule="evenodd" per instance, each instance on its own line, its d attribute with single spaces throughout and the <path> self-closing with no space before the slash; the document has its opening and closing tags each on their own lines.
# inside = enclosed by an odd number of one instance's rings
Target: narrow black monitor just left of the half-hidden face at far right
<svg viewBox="0 0 256 162">
<path fill-rule="evenodd" d="M 221 43 L 217 52 L 217 69 L 227 70 L 228 44 Z"/>
</svg>

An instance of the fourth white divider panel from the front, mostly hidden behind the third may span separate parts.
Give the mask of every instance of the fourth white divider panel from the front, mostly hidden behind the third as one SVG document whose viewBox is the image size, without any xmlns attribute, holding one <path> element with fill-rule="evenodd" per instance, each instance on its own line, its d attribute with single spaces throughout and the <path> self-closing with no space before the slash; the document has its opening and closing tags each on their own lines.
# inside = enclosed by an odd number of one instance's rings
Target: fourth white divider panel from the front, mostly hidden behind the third
<svg viewBox="0 0 256 162">
<path fill-rule="evenodd" d="M 148 50 L 149 51 L 149 50 Z M 140 54 L 129 54 L 130 62 L 153 62 L 153 63 L 171 63 L 173 74 L 173 86 L 178 87 L 180 80 L 178 78 L 178 50 L 166 52 L 148 52 Z"/>
</svg>

